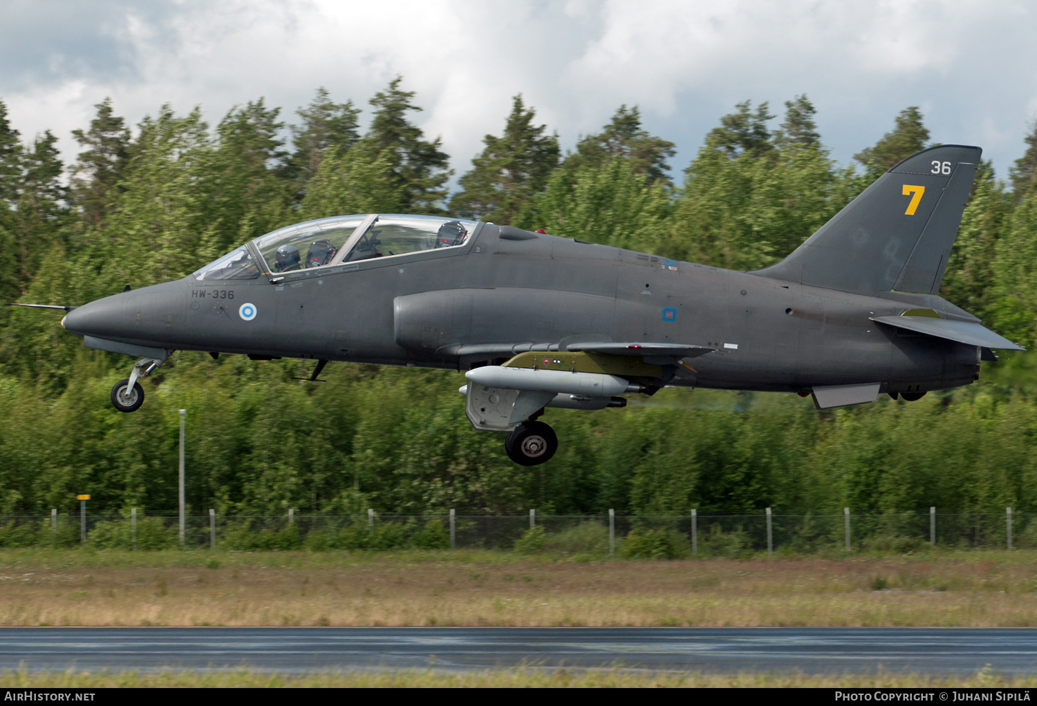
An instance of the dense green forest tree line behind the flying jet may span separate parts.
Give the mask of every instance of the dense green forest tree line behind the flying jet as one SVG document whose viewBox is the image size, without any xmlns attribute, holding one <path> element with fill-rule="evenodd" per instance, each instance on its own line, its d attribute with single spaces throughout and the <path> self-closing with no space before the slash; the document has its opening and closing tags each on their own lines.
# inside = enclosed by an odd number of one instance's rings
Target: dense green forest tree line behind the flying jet
<svg viewBox="0 0 1037 706">
<path fill-rule="evenodd" d="M 369 111 L 361 130 L 362 110 Z M 928 146 L 918 108 L 838 165 L 806 95 L 779 117 L 737 104 L 677 175 L 675 145 L 636 106 L 563 153 L 522 95 L 457 179 L 396 78 L 366 107 L 325 89 L 289 119 L 263 100 L 209 125 L 161 107 L 131 130 L 108 100 L 74 132 L 12 130 L 0 102 L 0 296 L 82 304 L 183 277 L 281 226 L 356 213 L 450 214 L 706 264 L 773 263 L 900 159 Z M 942 294 L 1037 342 L 1037 125 L 1007 178 L 982 165 Z M 221 513 L 1037 511 L 1037 399 L 1027 355 L 918 402 L 819 414 L 777 394 L 664 390 L 623 410 L 548 412 L 549 463 L 518 468 L 473 431 L 460 375 L 185 352 L 115 412 L 129 359 L 84 349 L 58 316 L 0 308 L 0 513 L 176 507 L 176 411 L 188 412 L 188 499 Z"/>
</svg>

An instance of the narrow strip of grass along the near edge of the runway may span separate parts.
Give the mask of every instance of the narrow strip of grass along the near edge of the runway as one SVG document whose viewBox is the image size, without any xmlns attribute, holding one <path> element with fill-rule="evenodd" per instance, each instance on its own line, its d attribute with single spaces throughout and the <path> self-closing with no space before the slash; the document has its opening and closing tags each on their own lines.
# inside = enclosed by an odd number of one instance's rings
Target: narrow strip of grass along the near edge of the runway
<svg viewBox="0 0 1037 706">
<path fill-rule="evenodd" d="M 804 674 L 708 675 L 594 670 L 487 670 L 484 672 L 320 672 L 304 675 L 262 672 L 5 672 L 0 688 L 106 687 L 815 687 L 815 688 L 1033 688 L 1037 677 L 986 672 L 930 677 L 919 674 L 807 676 Z"/>
</svg>

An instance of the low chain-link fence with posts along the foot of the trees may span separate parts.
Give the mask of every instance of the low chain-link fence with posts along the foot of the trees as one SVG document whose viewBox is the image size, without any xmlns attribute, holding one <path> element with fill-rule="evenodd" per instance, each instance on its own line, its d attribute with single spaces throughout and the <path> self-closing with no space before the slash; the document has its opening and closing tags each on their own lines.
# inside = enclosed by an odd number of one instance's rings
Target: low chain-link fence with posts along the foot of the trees
<svg viewBox="0 0 1037 706">
<path fill-rule="evenodd" d="M 1037 513 L 684 515 L 188 515 L 183 545 L 224 549 L 487 548 L 652 557 L 1037 548 Z M 0 515 L 0 546 L 137 549 L 181 545 L 177 515 Z"/>
</svg>

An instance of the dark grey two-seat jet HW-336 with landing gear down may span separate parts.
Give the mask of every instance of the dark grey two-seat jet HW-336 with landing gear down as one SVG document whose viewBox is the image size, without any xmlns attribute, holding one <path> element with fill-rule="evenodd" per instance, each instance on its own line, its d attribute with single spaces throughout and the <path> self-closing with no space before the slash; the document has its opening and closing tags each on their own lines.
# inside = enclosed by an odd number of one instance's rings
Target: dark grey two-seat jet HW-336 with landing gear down
<svg viewBox="0 0 1037 706">
<path fill-rule="evenodd" d="M 545 407 L 667 386 L 797 393 L 826 410 L 917 400 L 1021 350 L 937 295 L 981 149 L 880 176 L 777 264 L 733 272 L 465 219 L 369 214 L 246 243 L 184 279 L 67 310 L 84 345 L 140 360 L 116 410 L 175 350 L 464 371 L 466 413 L 543 463 Z M 40 305 L 36 305 L 40 306 Z M 46 306 L 46 305 L 45 305 Z"/>
</svg>

